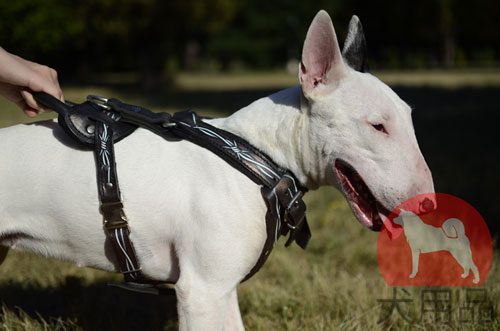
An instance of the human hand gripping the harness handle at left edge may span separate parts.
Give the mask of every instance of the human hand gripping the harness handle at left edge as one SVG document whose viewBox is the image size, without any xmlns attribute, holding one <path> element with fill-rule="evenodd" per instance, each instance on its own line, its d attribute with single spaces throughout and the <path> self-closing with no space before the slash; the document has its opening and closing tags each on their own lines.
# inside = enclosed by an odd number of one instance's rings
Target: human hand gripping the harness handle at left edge
<svg viewBox="0 0 500 331">
<path fill-rule="evenodd" d="M 36 102 L 33 91 L 46 92 L 64 102 L 54 69 L 27 61 L 0 47 L 0 94 L 29 117 L 50 111 Z"/>
</svg>

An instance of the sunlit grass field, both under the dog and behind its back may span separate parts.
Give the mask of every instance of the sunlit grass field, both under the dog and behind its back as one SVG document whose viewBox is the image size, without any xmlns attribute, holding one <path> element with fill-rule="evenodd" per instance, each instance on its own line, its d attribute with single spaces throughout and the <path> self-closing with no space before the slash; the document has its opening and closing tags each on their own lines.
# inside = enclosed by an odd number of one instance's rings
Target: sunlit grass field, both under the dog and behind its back
<svg viewBox="0 0 500 331">
<path fill-rule="evenodd" d="M 427 80 L 425 73 L 385 72 L 380 77 L 410 87 L 500 86 L 500 73 L 493 72 L 496 74 L 487 74 L 485 80 L 480 79 L 481 71 L 431 72 Z M 173 112 L 192 105 L 201 114 L 225 116 L 257 97 L 295 84 L 296 77 L 283 73 L 183 74 L 164 96 L 106 84 L 63 86 L 63 90 L 65 97 L 75 102 L 82 102 L 87 94 L 98 94 L 156 111 Z M 0 127 L 27 121 L 3 99 L 0 109 Z M 44 114 L 36 120 L 53 116 Z M 428 120 L 426 116 L 420 121 Z M 435 180 L 439 182 L 440 177 Z M 477 313 L 472 322 L 460 322 L 465 289 L 440 287 L 452 293 L 451 323 L 434 321 L 429 313 L 420 323 L 408 323 L 396 308 L 390 318 L 379 323 L 388 306 L 377 300 L 391 298 L 393 288 L 385 284 L 378 269 L 378 233 L 361 226 L 333 188 L 309 192 L 306 201 L 313 234 L 309 248 L 285 248 L 281 239 L 261 271 L 239 287 L 247 330 L 500 330 L 497 252 L 480 287 L 487 290 L 483 306 L 493 313 L 489 322 L 480 323 Z M 100 222 L 96 220 L 96 226 Z M 10 251 L 0 266 L 0 330 L 176 330 L 174 296 L 136 294 L 106 285 L 121 281 L 116 274 Z M 401 312 L 417 319 L 424 288 L 399 290 L 400 296 L 413 299 L 400 304 Z"/>
</svg>

